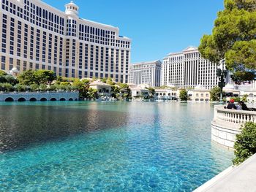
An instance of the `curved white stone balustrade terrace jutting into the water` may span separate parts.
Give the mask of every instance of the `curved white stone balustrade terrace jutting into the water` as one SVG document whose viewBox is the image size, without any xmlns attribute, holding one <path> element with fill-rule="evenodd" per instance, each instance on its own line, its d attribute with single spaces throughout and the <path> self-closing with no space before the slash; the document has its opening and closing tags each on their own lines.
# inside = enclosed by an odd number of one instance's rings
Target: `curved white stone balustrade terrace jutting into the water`
<svg viewBox="0 0 256 192">
<path fill-rule="evenodd" d="M 214 107 L 214 120 L 211 121 L 211 139 L 226 147 L 233 148 L 236 134 L 246 122 L 256 123 L 256 112 L 227 110 L 223 105 Z"/>
</svg>

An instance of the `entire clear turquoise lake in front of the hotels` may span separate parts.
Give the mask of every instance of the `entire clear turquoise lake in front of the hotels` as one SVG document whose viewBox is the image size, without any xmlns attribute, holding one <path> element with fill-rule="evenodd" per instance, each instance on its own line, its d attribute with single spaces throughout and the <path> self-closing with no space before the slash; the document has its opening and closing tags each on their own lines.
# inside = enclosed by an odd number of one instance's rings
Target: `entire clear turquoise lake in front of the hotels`
<svg viewBox="0 0 256 192">
<path fill-rule="evenodd" d="M 210 104 L 0 104 L 0 191 L 192 191 L 231 165 Z"/>
</svg>

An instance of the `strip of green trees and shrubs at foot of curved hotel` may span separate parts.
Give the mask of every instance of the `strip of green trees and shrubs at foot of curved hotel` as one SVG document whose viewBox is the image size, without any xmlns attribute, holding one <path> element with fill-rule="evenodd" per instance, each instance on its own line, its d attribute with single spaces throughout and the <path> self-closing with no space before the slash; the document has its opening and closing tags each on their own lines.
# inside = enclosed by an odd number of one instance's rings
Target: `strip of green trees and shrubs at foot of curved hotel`
<svg viewBox="0 0 256 192">
<path fill-rule="evenodd" d="M 90 83 L 97 80 L 78 79 L 67 77 L 56 77 L 50 70 L 28 70 L 22 72 L 17 78 L 6 72 L 0 71 L 0 91 L 79 91 L 80 99 L 98 99 L 97 90 L 90 88 Z M 129 85 L 120 82 L 113 82 L 112 79 L 103 78 L 100 80 L 111 86 L 111 96 L 118 100 L 131 99 Z"/>
</svg>

